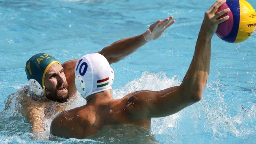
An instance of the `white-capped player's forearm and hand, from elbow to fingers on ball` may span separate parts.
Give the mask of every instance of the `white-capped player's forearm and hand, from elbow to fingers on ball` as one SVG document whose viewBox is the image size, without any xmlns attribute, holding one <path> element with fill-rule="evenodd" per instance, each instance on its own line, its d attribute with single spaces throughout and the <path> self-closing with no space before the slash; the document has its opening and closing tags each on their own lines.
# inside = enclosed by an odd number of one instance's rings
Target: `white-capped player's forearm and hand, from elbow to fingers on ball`
<svg viewBox="0 0 256 144">
<path fill-rule="evenodd" d="M 202 98 L 203 89 L 207 83 L 210 71 L 211 58 L 211 37 L 217 31 L 218 25 L 226 20 L 229 16 L 220 18 L 230 11 L 229 8 L 218 12 L 226 0 L 217 0 L 206 13 L 202 22 L 201 30 L 198 35 L 195 54 L 185 78 L 182 81 L 184 94 L 190 94 L 195 100 Z"/>
</svg>

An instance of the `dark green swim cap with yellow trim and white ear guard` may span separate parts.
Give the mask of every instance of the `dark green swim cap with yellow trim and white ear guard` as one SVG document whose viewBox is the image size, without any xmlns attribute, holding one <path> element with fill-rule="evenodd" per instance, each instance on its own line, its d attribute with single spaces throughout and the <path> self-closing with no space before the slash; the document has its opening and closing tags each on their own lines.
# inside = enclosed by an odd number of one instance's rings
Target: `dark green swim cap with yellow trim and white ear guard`
<svg viewBox="0 0 256 144">
<path fill-rule="evenodd" d="M 45 53 L 35 54 L 27 61 L 25 71 L 29 80 L 30 89 L 35 94 L 43 95 L 45 74 L 54 63 L 61 65 L 57 59 Z"/>
</svg>

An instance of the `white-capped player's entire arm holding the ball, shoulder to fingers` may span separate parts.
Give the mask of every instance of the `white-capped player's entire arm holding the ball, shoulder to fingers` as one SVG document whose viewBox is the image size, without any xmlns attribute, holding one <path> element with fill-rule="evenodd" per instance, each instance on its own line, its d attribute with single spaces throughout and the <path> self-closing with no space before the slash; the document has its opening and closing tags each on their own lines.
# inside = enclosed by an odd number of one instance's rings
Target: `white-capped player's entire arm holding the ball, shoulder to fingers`
<svg viewBox="0 0 256 144">
<path fill-rule="evenodd" d="M 163 117 L 177 113 L 201 100 L 210 71 L 211 37 L 217 31 L 218 24 L 229 18 L 226 16 L 218 19 L 229 9 L 216 13 L 217 9 L 225 2 L 226 0 L 218 0 L 206 11 L 198 34 L 195 53 L 182 84 L 158 92 L 139 91 L 134 93 L 128 98 L 129 104 L 133 105 L 131 107 L 133 113 L 148 118 Z"/>
</svg>

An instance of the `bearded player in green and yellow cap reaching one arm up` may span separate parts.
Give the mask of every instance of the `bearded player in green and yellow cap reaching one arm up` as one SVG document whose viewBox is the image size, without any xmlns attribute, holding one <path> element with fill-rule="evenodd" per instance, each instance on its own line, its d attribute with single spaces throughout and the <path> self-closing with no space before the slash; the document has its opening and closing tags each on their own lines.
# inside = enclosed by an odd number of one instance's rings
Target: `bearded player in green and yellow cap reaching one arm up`
<svg viewBox="0 0 256 144">
<path fill-rule="evenodd" d="M 173 16 L 162 21 L 158 20 L 145 33 L 116 41 L 97 53 L 103 55 L 109 64 L 116 63 L 148 41 L 160 37 L 163 31 L 175 22 L 172 19 Z M 77 62 L 79 62 L 78 59 L 75 59 L 61 65 L 52 55 L 45 53 L 33 55 L 27 61 L 25 71 L 32 94 L 30 97 L 24 96 L 21 102 L 24 109 L 22 115 L 32 123 L 33 132 L 45 131 L 43 120 L 66 110 L 66 106 L 70 104 L 67 101 L 76 96 L 75 66 Z M 100 83 L 98 87 L 106 85 L 104 79 L 98 80 Z"/>
</svg>

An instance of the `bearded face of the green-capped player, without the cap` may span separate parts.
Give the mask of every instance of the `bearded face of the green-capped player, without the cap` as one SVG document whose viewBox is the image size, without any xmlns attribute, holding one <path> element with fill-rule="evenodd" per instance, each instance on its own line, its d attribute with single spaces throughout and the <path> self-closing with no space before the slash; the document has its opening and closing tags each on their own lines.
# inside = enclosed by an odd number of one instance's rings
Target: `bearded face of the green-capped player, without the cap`
<svg viewBox="0 0 256 144">
<path fill-rule="evenodd" d="M 58 63 L 53 64 L 45 76 L 46 97 L 55 102 L 67 102 L 69 91 L 63 67 Z"/>
</svg>

